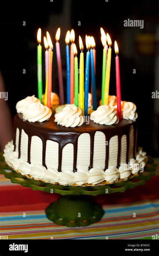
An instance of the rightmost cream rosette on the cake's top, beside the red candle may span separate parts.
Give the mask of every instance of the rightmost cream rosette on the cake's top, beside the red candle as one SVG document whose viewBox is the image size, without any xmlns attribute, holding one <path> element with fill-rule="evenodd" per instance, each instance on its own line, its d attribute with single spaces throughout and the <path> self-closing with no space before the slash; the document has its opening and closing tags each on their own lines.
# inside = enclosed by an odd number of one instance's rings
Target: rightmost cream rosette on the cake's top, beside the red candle
<svg viewBox="0 0 159 256">
<path fill-rule="evenodd" d="M 121 114 L 123 119 L 133 120 L 134 118 L 138 118 L 138 114 L 136 113 L 136 105 L 130 101 L 122 101 L 121 102 Z"/>
</svg>

